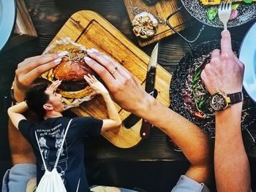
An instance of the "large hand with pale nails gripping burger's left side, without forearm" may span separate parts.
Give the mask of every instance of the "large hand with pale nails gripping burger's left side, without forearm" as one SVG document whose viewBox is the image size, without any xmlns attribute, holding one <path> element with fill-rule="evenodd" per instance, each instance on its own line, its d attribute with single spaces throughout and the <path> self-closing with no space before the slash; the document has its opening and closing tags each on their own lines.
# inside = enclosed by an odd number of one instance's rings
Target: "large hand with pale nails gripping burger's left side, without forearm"
<svg viewBox="0 0 256 192">
<path fill-rule="evenodd" d="M 34 80 L 61 63 L 64 55 L 67 55 L 67 51 L 26 58 L 18 64 L 13 82 L 15 99 L 23 101 L 26 91 L 33 85 Z"/>
</svg>

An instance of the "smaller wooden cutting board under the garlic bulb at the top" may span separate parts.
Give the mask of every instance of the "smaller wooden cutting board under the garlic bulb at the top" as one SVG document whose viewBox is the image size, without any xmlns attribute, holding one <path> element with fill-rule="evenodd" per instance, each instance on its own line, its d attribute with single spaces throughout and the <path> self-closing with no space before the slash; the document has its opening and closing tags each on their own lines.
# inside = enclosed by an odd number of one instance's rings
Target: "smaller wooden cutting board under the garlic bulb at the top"
<svg viewBox="0 0 256 192">
<path fill-rule="evenodd" d="M 127 12 L 131 20 L 131 28 L 132 20 L 135 18 L 133 11 L 135 8 L 139 8 L 141 11 L 150 12 L 155 18 L 157 18 L 157 20 L 165 21 L 170 13 L 176 11 L 176 9 L 179 7 L 178 0 L 159 0 L 159 2 L 157 2 L 157 4 L 154 6 L 147 5 L 143 0 L 124 0 L 124 4 L 127 7 Z M 189 17 L 186 12 L 182 12 L 182 15 L 181 12 L 177 12 L 177 14 L 173 15 L 173 17 L 170 19 L 170 23 L 176 28 L 177 31 L 181 31 L 184 29 L 184 23 L 186 23 L 188 18 Z M 159 24 L 157 32 L 154 34 L 153 38 L 145 40 L 138 37 L 138 42 L 139 45 L 143 47 L 172 34 L 175 34 L 175 32 L 171 30 L 166 23 Z"/>
</svg>

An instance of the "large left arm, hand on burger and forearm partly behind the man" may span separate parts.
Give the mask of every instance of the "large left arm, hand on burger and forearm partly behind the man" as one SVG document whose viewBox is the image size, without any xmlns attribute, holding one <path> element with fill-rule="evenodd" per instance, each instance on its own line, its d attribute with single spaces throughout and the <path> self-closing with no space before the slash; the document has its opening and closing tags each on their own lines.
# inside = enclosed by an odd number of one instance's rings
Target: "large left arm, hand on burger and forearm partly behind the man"
<svg viewBox="0 0 256 192">
<path fill-rule="evenodd" d="M 67 53 L 39 55 L 26 58 L 18 64 L 18 68 L 15 71 L 15 80 L 12 83 L 15 100 L 18 102 L 24 101 L 25 93 L 34 84 L 34 81 L 44 72 L 57 66 L 65 54 Z M 29 111 L 26 112 L 25 116 L 31 122 L 35 122 L 38 119 L 34 113 Z M 35 157 L 31 145 L 23 138 L 20 131 L 13 126 L 11 120 L 8 123 L 8 137 L 12 165 L 35 164 Z"/>
</svg>

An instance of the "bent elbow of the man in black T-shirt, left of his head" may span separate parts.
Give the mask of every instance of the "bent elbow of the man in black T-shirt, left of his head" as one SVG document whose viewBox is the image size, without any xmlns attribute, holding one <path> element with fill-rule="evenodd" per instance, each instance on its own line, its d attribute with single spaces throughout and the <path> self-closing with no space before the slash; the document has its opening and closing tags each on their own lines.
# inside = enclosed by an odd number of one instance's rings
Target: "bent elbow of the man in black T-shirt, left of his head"
<svg viewBox="0 0 256 192">
<path fill-rule="evenodd" d="M 29 110 L 29 107 L 25 101 L 19 104 L 13 105 L 8 109 L 7 112 L 8 112 L 9 118 L 12 121 L 12 124 L 15 126 L 15 128 L 18 128 L 18 124 L 20 120 L 26 119 L 25 116 L 22 114 L 27 110 Z"/>
</svg>

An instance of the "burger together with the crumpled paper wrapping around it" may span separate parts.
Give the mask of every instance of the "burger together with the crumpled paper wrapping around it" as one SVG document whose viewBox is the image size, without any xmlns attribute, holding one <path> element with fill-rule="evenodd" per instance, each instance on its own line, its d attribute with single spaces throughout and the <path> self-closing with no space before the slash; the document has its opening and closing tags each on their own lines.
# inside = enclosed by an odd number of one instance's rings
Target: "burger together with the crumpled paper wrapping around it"
<svg viewBox="0 0 256 192">
<path fill-rule="evenodd" d="M 87 55 L 86 48 L 65 38 L 48 47 L 45 53 L 59 53 L 64 50 L 67 50 L 67 55 L 62 58 L 61 63 L 42 74 L 42 77 L 51 82 L 61 80 L 58 92 L 69 101 L 89 97 L 93 91 L 83 76 L 88 74 L 95 76 L 95 72 L 83 60 Z"/>
</svg>

